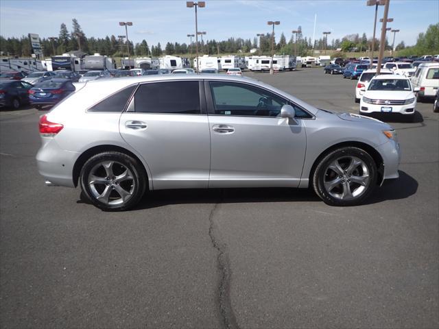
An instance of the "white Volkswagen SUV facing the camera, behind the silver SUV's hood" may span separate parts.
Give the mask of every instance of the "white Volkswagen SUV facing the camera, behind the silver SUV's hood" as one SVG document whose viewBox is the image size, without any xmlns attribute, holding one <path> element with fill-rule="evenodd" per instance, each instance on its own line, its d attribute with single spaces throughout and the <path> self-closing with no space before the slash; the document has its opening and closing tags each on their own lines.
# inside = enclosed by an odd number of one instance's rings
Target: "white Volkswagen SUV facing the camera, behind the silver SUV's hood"
<svg viewBox="0 0 439 329">
<path fill-rule="evenodd" d="M 360 114 L 401 113 L 414 119 L 415 92 L 410 80 L 404 75 L 377 75 L 370 80 L 359 103 Z"/>
</svg>

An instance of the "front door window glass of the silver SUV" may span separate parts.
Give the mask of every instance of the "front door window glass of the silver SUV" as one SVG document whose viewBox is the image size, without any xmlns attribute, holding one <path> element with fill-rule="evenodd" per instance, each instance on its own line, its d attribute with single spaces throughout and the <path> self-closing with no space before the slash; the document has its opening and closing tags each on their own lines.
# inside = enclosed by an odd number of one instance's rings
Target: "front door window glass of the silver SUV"
<svg viewBox="0 0 439 329">
<path fill-rule="evenodd" d="M 233 82 L 210 82 L 215 114 L 250 117 L 278 117 L 285 104 L 292 105 L 296 117 L 309 118 L 307 112 L 287 99 L 265 89 Z"/>
</svg>

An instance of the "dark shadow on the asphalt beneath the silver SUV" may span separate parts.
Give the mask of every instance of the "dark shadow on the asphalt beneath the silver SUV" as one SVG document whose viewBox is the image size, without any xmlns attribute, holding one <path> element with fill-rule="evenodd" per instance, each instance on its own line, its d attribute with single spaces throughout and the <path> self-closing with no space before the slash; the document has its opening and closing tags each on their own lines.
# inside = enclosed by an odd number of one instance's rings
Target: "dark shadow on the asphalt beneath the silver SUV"
<svg viewBox="0 0 439 329">
<path fill-rule="evenodd" d="M 404 171 L 399 179 L 385 181 L 364 204 L 405 199 L 414 195 L 418 182 Z M 147 192 L 132 210 L 143 210 L 171 204 L 238 204 L 263 202 L 322 202 L 311 188 L 193 188 Z M 91 204 L 81 192 L 77 203 Z"/>
</svg>

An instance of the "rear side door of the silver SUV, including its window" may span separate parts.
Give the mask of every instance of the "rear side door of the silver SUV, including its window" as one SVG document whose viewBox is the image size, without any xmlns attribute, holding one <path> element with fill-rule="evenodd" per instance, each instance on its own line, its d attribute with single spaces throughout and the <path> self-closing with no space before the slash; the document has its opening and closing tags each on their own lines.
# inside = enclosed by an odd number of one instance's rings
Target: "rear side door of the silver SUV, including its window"
<svg viewBox="0 0 439 329">
<path fill-rule="evenodd" d="M 121 114 L 121 135 L 147 162 L 154 189 L 209 184 L 211 141 L 202 90 L 198 80 L 144 83 Z"/>
</svg>

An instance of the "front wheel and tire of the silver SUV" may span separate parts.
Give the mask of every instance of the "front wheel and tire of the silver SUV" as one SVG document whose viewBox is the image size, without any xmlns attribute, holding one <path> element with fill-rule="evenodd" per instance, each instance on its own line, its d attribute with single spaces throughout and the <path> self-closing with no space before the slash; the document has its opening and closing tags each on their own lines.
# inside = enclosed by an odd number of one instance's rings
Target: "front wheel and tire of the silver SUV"
<svg viewBox="0 0 439 329">
<path fill-rule="evenodd" d="M 361 204 L 376 186 L 377 165 L 358 147 L 342 147 L 329 152 L 313 174 L 314 191 L 330 206 Z"/>
</svg>

